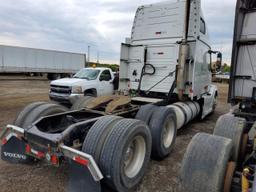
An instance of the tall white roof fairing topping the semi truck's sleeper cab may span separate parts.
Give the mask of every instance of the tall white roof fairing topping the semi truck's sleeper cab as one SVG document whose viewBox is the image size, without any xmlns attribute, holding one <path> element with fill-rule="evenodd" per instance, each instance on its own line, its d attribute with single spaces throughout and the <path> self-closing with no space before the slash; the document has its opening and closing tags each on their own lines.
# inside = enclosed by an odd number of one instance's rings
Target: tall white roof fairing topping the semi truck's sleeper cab
<svg viewBox="0 0 256 192">
<path fill-rule="evenodd" d="M 178 41 L 182 38 L 185 22 L 186 1 L 170 0 L 138 7 L 133 23 L 131 42 Z M 196 39 L 199 35 L 208 39 L 208 30 L 200 7 L 200 1 L 193 5 L 190 13 L 188 36 Z M 198 19 L 197 15 L 200 15 Z M 200 29 L 203 26 L 203 34 Z M 154 42 L 155 43 L 155 42 Z M 153 44 L 154 44 L 153 43 Z M 208 42 L 207 42 L 208 43 Z"/>
</svg>

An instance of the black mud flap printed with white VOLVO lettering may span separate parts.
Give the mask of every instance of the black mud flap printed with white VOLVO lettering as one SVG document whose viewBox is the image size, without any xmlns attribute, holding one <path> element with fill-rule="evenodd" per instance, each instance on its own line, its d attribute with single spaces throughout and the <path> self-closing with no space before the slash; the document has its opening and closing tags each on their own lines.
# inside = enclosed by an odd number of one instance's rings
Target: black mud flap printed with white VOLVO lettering
<svg viewBox="0 0 256 192">
<path fill-rule="evenodd" d="M 26 143 L 13 136 L 1 146 L 1 159 L 10 163 L 29 163 L 33 158 L 26 155 Z"/>
</svg>

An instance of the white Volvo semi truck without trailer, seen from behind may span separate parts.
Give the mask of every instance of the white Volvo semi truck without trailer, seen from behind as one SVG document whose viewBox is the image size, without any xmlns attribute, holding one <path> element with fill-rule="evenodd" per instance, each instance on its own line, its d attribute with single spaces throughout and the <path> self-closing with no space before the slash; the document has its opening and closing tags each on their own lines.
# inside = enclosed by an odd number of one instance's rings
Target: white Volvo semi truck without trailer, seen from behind
<svg viewBox="0 0 256 192">
<path fill-rule="evenodd" d="M 133 191 L 150 157 L 171 153 L 177 129 L 214 111 L 214 53 L 200 0 L 140 6 L 121 48 L 120 94 L 83 97 L 74 111 L 28 105 L 1 133 L 1 158 L 55 166 L 66 160 L 70 191 Z"/>
</svg>

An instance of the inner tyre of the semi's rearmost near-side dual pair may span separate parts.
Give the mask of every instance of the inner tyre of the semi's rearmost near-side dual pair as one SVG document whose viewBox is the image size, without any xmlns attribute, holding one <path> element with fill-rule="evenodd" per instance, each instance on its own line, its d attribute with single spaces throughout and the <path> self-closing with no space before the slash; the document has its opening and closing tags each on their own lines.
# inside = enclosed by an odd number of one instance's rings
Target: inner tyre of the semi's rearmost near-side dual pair
<svg viewBox="0 0 256 192">
<path fill-rule="evenodd" d="M 121 120 L 118 116 L 104 116 L 90 128 L 83 143 L 82 151 L 90 154 L 99 163 L 100 153 L 113 125 Z"/>
</svg>

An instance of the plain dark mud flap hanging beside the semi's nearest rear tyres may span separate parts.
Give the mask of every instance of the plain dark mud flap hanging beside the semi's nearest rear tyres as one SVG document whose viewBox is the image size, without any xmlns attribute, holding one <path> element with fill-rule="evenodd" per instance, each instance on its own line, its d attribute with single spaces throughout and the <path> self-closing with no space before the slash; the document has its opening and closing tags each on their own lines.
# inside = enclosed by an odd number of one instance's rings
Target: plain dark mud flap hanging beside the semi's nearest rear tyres
<svg viewBox="0 0 256 192">
<path fill-rule="evenodd" d="M 86 166 L 69 161 L 69 181 L 67 192 L 101 192 L 100 181 L 95 181 Z"/>
</svg>

